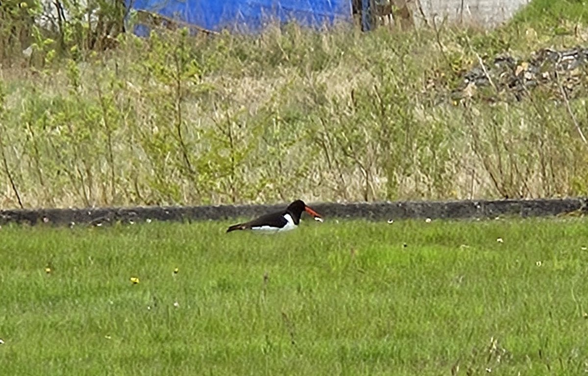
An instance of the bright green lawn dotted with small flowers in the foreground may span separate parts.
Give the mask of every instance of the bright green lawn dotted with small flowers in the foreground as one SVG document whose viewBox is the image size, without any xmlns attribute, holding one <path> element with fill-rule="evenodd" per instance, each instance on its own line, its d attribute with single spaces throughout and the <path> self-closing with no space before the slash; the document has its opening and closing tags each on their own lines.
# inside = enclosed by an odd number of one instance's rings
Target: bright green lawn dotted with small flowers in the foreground
<svg viewBox="0 0 588 376">
<path fill-rule="evenodd" d="M 226 224 L 2 227 L 1 373 L 587 367 L 586 220 L 306 218 L 277 235 L 226 234 Z"/>
</svg>

